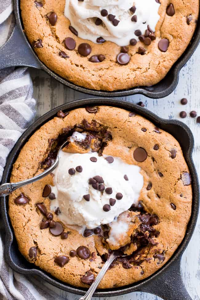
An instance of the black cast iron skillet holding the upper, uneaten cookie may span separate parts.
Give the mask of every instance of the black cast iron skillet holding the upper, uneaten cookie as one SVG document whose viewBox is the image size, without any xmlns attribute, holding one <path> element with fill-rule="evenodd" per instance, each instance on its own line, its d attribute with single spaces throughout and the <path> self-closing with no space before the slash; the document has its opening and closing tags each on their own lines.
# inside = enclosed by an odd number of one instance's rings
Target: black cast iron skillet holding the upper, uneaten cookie
<svg viewBox="0 0 200 300">
<path fill-rule="evenodd" d="M 46 71 L 50 76 L 54 77 L 59 82 L 63 83 L 70 88 L 82 93 L 99 96 L 99 97 L 122 97 L 134 94 L 143 94 L 150 98 L 163 98 L 173 92 L 178 84 L 178 77 L 181 68 L 185 65 L 194 50 L 197 48 L 200 39 L 200 20 L 198 19 L 197 28 L 194 36 L 182 56 L 175 62 L 166 77 L 154 86 L 143 87 L 138 86 L 129 90 L 118 91 L 98 91 L 77 86 L 76 84 L 60 77 L 58 74 L 47 68 L 38 58 L 33 51 L 28 39 L 23 32 L 23 25 L 20 19 L 20 0 L 14 0 L 14 13 L 15 13 L 15 28 L 9 41 L 0 50 L 0 70 L 8 66 L 30 66 L 37 69 Z"/>
</svg>

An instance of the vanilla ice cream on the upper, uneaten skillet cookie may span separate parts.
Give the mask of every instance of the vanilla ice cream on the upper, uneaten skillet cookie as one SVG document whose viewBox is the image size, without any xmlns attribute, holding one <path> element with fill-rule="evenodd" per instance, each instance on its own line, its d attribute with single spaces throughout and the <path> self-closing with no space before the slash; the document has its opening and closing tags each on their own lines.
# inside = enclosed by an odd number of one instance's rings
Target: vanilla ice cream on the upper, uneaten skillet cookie
<svg viewBox="0 0 200 300">
<path fill-rule="evenodd" d="M 133 13 L 130 8 L 133 5 L 136 7 L 134 14 L 137 15 L 137 22 L 131 21 Z M 78 31 L 78 37 L 94 43 L 98 37 L 103 37 L 106 41 L 126 46 L 130 39 L 138 40 L 135 30 L 141 30 L 144 34 L 147 25 L 155 30 L 160 18 L 159 6 L 155 0 L 66 0 L 64 14 L 70 20 L 71 26 Z M 106 9 L 108 14 L 113 14 L 120 21 L 117 26 L 113 25 L 108 16 L 101 15 L 102 9 Z M 96 18 L 100 18 L 103 23 L 95 25 Z"/>
</svg>

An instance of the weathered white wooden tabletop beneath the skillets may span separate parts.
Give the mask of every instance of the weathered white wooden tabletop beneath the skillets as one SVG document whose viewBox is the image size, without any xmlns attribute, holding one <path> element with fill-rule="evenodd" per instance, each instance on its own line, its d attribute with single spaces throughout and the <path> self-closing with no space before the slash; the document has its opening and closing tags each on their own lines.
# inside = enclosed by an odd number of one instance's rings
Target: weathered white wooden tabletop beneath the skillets
<svg viewBox="0 0 200 300">
<path fill-rule="evenodd" d="M 50 78 L 43 71 L 31 70 L 34 82 L 34 98 L 37 100 L 37 116 L 41 116 L 50 109 L 81 98 L 91 98 L 91 96 L 75 92 L 63 86 L 55 79 Z M 181 98 L 187 98 L 188 104 L 182 106 Z M 162 118 L 179 118 L 179 112 L 186 110 L 188 117 L 181 119 L 192 130 L 195 138 L 195 149 L 193 153 L 194 162 L 200 178 L 200 124 L 196 124 L 196 119 L 190 118 L 191 110 L 196 110 L 200 116 L 200 45 L 195 51 L 190 61 L 180 72 L 180 79 L 175 91 L 166 98 L 159 100 L 148 99 L 142 95 L 123 97 L 122 99 L 137 103 L 143 101 L 146 108 L 158 114 Z M 184 216 L 183 216 L 184 217 Z M 196 226 L 194 235 L 182 257 L 182 277 L 186 288 L 194 300 L 200 300 L 200 218 Z M 80 297 L 70 293 L 52 288 L 60 297 L 69 300 L 77 300 Z M 59 298 L 58 296 L 58 298 Z M 95 300 L 100 298 L 94 298 Z M 124 296 L 110 297 L 109 300 L 158 300 L 158 298 L 146 293 L 131 293 Z M 101 300 L 103 300 L 101 298 Z M 108 300 L 105 298 L 104 300 Z M 171 299 L 173 300 L 173 299 Z"/>
</svg>

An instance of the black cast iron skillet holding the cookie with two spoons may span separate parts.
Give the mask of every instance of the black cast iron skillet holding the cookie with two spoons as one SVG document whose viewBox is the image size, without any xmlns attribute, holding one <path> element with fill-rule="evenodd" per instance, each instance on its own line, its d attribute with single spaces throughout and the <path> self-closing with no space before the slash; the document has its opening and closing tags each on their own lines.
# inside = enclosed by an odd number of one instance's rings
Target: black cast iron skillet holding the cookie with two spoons
<svg viewBox="0 0 200 300">
<path fill-rule="evenodd" d="M 22 148 L 22 146 L 26 143 L 26 141 L 30 138 L 30 136 L 40 127 L 42 124 L 46 123 L 48 120 L 53 118 L 58 110 L 72 110 L 78 107 L 84 107 L 88 105 L 109 105 L 109 106 L 118 106 L 130 111 L 136 112 L 136 114 L 140 114 L 145 118 L 152 121 L 159 128 L 166 130 L 170 134 L 172 134 L 180 143 L 182 147 L 182 151 L 184 157 L 186 159 L 187 165 L 190 169 L 190 174 L 192 176 L 192 190 L 193 190 L 193 204 L 192 204 L 192 214 L 190 218 L 190 222 L 187 227 L 187 232 L 184 240 L 181 245 L 178 247 L 178 250 L 174 253 L 172 258 L 156 273 L 151 275 L 149 278 L 142 280 L 141 282 L 137 282 L 135 284 L 124 286 L 120 288 L 107 289 L 107 290 L 97 290 L 95 296 L 98 297 L 110 297 L 116 295 L 122 295 L 126 293 L 130 293 L 133 291 L 143 291 L 158 295 L 159 297 L 165 300 L 191 300 L 189 294 L 186 291 L 186 288 L 182 282 L 181 272 L 180 272 L 180 261 L 186 246 L 188 245 L 192 233 L 194 231 L 194 227 L 197 222 L 198 217 L 198 208 L 199 208 L 199 185 L 198 185 L 198 177 L 194 167 L 194 163 L 192 160 L 192 151 L 194 148 L 194 139 L 190 129 L 182 122 L 177 120 L 164 120 L 146 110 L 138 105 L 135 105 L 130 102 L 117 100 L 117 99 L 109 99 L 109 98 L 91 98 L 84 100 L 77 100 L 70 103 L 63 104 L 57 108 L 54 108 L 50 112 L 43 115 L 36 122 L 34 122 L 24 134 L 22 134 L 21 138 L 19 138 L 18 142 L 14 146 L 11 151 L 7 163 L 6 168 L 3 174 L 2 183 L 9 182 L 10 174 L 12 171 L 12 165 L 15 162 L 18 154 Z M 10 267 L 15 271 L 25 274 L 25 275 L 38 275 L 42 279 L 51 283 L 52 285 L 71 292 L 75 294 L 83 295 L 85 293 L 85 289 L 78 288 L 74 286 L 70 286 L 65 284 L 58 279 L 54 278 L 50 274 L 42 271 L 38 267 L 26 261 L 26 259 L 20 254 L 18 251 L 17 242 L 14 238 L 13 229 L 10 223 L 10 219 L 8 216 L 8 197 L 1 198 L 1 212 L 2 218 L 6 228 L 6 243 L 5 243 L 5 254 L 6 261 L 9 263 Z M 184 217 L 184 216 L 183 216 Z"/>
</svg>

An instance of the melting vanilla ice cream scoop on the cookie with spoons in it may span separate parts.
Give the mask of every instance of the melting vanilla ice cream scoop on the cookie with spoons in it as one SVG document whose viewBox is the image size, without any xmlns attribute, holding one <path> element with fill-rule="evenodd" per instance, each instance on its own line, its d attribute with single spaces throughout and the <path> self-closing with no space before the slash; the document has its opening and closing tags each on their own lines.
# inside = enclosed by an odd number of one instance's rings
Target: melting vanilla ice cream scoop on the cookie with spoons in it
<svg viewBox="0 0 200 300">
<path fill-rule="evenodd" d="M 91 157 L 96 157 L 97 162 L 92 162 Z M 76 171 L 70 175 L 68 170 L 76 166 L 82 166 L 82 172 Z M 124 179 L 125 174 L 129 181 Z M 96 175 L 102 176 L 105 188 L 112 187 L 112 194 L 100 192 L 89 185 L 89 178 Z M 61 151 L 52 187 L 56 199 L 51 201 L 50 208 L 55 210 L 59 207 L 61 214 L 58 217 L 65 224 L 92 229 L 112 222 L 128 210 L 137 201 L 142 186 L 140 168 L 126 164 L 120 158 L 115 157 L 113 163 L 108 163 L 105 157 L 99 157 L 97 153 L 72 154 Z M 116 200 L 109 211 L 104 211 L 103 206 L 109 204 L 110 198 L 116 199 L 117 193 L 122 193 L 122 199 Z M 90 201 L 83 198 L 87 194 L 90 194 Z"/>
</svg>

